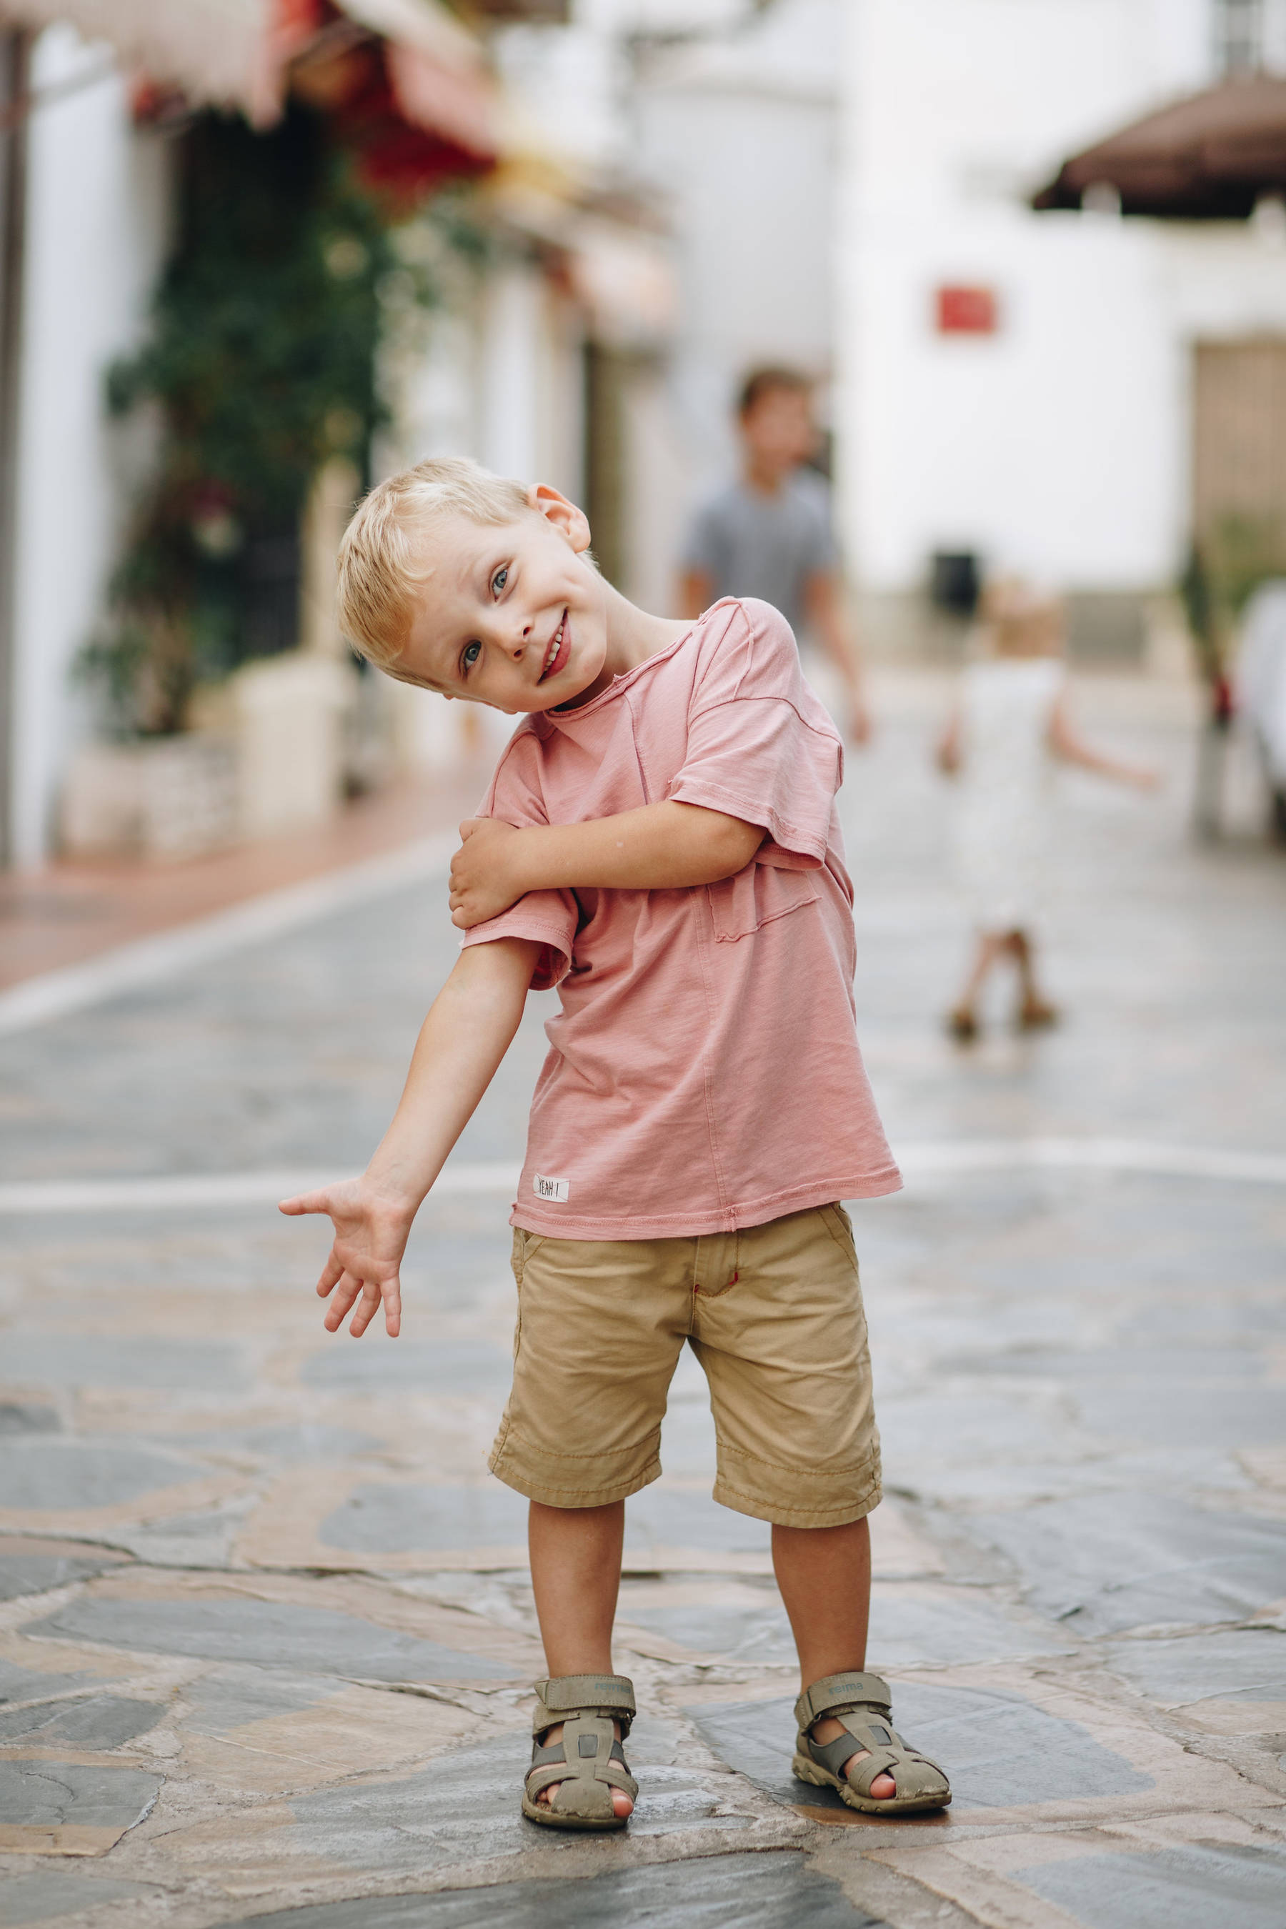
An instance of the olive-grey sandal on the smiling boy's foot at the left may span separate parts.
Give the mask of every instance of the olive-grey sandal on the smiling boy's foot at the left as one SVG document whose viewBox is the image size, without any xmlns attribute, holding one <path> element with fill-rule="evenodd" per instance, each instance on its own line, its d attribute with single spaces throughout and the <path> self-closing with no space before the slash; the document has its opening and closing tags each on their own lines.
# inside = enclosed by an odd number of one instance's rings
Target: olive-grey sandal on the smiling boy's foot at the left
<svg viewBox="0 0 1286 1929">
<path fill-rule="evenodd" d="M 634 1682 L 625 1674 L 557 1674 L 536 1682 L 536 1717 L 532 1721 L 532 1765 L 522 1784 L 522 1813 L 549 1829 L 625 1829 L 629 1815 L 615 1815 L 611 1790 L 623 1788 L 630 1802 L 638 1800 L 638 1782 L 629 1771 L 613 1721 L 621 1723 L 621 1740 L 634 1719 Z M 542 1746 L 555 1723 L 563 1732 L 549 1748 Z M 548 1802 L 536 1796 L 549 1782 L 557 1790 Z"/>
</svg>

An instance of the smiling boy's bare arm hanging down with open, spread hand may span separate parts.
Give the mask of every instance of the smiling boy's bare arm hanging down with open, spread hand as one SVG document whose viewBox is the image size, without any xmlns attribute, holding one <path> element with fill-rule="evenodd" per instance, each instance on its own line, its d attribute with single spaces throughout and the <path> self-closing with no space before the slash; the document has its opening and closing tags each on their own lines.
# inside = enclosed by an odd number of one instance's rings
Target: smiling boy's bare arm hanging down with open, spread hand
<svg viewBox="0 0 1286 1929">
<path fill-rule="evenodd" d="M 318 1192 L 281 1200 L 285 1213 L 328 1213 L 335 1227 L 316 1291 L 330 1300 L 326 1327 L 361 1337 L 384 1302 L 391 1337 L 401 1327 L 401 1256 L 426 1192 L 490 1086 L 522 1017 L 538 943 L 501 937 L 463 951 L 432 1003 L 407 1084 L 370 1165 Z"/>
</svg>

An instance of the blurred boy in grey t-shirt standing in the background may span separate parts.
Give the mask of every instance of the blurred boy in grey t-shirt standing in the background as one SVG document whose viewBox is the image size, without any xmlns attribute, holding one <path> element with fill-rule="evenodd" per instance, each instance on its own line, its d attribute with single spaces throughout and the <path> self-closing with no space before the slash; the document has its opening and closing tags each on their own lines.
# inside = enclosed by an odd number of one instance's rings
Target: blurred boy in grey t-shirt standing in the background
<svg viewBox="0 0 1286 1929">
<path fill-rule="evenodd" d="M 796 637 L 816 637 L 839 673 L 841 723 L 870 737 L 858 650 L 844 617 L 831 492 L 806 463 L 817 451 L 814 386 L 796 368 L 754 368 L 737 426 L 742 471 L 696 513 L 683 554 L 679 608 L 698 617 L 721 596 L 756 596 L 781 610 Z"/>
</svg>

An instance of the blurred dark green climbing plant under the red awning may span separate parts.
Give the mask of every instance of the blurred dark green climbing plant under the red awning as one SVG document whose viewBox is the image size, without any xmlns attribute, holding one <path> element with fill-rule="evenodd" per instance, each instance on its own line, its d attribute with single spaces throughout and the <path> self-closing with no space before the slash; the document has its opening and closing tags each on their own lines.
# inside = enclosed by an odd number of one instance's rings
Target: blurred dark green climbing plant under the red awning
<svg viewBox="0 0 1286 1929">
<path fill-rule="evenodd" d="M 366 471 L 386 419 L 389 305 L 432 307 L 432 249 L 293 104 L 255 133 L 202 114 L 183 137 L 175 245 L 143 349 L 106 378 L 114 415 L 160 419 L 154 480 L 79 658 L 118 735 L 181 729 L 197 681 L 293 640 L 297 540 L 320 465 Z M 447 245 L 470 245 L 451 201 Z"/>
</svg>

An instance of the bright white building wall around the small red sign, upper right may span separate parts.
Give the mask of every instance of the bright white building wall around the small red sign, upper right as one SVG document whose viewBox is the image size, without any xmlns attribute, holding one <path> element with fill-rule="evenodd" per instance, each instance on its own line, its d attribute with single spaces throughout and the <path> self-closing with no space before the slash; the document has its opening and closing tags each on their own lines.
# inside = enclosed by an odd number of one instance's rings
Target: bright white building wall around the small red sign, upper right
<svg viewBox="0 0 1286 1929">
<path fill-rule="evenodd" d="M 841 517 L 866 586 L 935 548 L 1145 588 L 1186 542 L 1195 332 L 1286 326 L 1253 231 L 1033 214 L 1093 139 L 1211 77 L 1207 0 L 848 0 Z M 985 284 L 995 338 L 937 336 Z M 1249 316 L 1255 316 L 1255 322 Z"/>
</svg>

